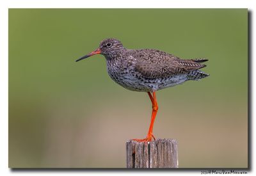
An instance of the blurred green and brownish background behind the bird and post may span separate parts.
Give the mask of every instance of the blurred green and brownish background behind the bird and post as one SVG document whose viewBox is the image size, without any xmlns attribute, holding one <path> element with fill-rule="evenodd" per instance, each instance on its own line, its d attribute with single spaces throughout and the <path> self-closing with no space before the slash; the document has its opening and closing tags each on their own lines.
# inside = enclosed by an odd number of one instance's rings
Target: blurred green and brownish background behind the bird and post
<svg viewBox="0 0 256 176">
<path fill-rule="evenodd" d="M 124 168 L 145 138 L 147 93 L 114 83 L 104 56 L 129 49 L 208 58 L 211 76 L 157 92 L 157 138 L 175 138 L 180 168 L 248 166 L 247 9 L 10 9 L 9 166 Z"/>
</svg>

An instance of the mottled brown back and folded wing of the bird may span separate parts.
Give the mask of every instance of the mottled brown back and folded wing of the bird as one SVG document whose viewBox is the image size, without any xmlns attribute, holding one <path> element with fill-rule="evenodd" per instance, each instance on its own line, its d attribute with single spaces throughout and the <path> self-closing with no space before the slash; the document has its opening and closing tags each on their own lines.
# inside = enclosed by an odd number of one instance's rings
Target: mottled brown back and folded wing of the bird
<svg viewBox="0 0 256 176">
<path fill-rule="evenodd" d="M 156 49 L 130 50 L 131 56 L 136 60 L 136 71 L 143 76 L 154 79 L 169 77 L 205 67 L 205 59 L 183 60 L 167 52 Z"/>
</svg>

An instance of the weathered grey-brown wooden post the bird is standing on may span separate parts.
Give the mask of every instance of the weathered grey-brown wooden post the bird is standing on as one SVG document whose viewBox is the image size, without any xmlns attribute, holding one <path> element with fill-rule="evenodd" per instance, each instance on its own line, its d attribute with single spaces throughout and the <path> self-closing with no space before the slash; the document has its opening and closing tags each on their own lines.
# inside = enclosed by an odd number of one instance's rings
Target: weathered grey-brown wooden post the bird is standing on
<svg viewBox="0 0 256 176">
<path fill-rule="evenodd" d="M 177 140 L 126 142 L 127 168 L 178 168 Z"/>
</svg>

